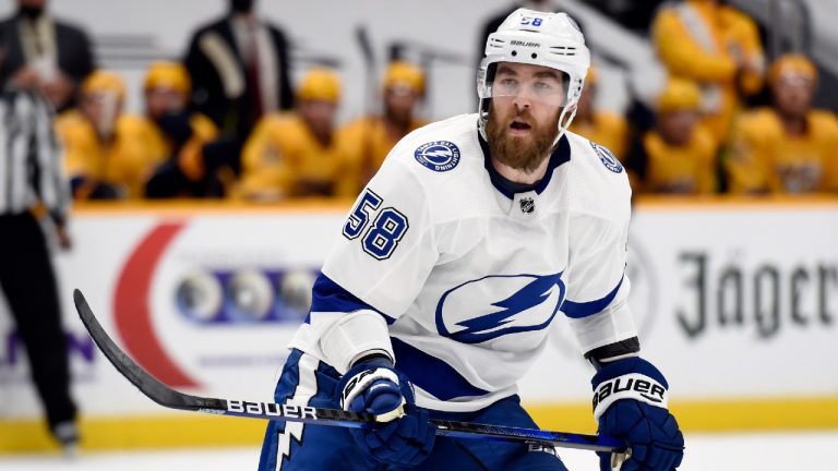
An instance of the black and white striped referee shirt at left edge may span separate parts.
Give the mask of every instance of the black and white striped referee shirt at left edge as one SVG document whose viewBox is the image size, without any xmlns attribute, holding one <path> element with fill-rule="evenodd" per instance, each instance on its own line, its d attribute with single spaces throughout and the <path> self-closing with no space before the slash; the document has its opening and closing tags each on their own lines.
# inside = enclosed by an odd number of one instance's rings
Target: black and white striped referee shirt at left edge
<svg viewBox="0 0 838 471">
<path fill-rule="evenodd" d="M 0 92 L 0 215 L 21 214 L 40 202 L 56 222 L 65 220 L 70 189 L 53 114 L 37 93 Z"/>
</svg>

